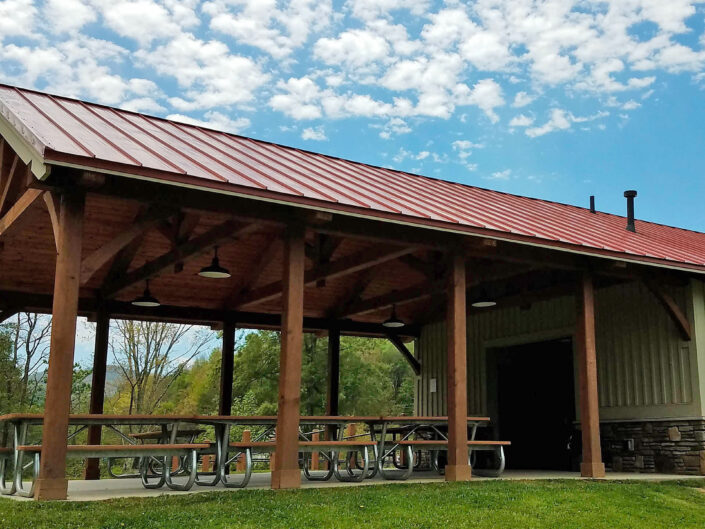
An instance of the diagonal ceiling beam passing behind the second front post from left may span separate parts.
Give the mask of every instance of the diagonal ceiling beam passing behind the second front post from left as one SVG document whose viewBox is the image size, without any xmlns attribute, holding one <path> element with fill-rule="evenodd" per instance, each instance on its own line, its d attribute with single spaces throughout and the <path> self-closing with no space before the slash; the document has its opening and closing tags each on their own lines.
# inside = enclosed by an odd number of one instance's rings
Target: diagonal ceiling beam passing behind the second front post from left
<svg viewBox="0 0 705 529">
<path fill-rule="evenodd" d="M 335 277 L 343 277 L 354 274 L 355 272 L 359 272 L 388 261 L 393 261 L 402 255 L 407 255 L 415 251 L 416 248 L 414 247 L 395 248 L 391 250 L 386 246 L 366 248 L 352 255 L 341 257 L 331 263 L 306 271 L 304 284 L 306 286 L 310 286 L 314 285 L 321 279 L 332 279 Z M 239 307 L 255 305 L 257 303 L 275 299 L 281 295 L 282 288 L 282 281 L 275 281 L 274 283 L 258 288 L 245 296 Z"/>
</svg>

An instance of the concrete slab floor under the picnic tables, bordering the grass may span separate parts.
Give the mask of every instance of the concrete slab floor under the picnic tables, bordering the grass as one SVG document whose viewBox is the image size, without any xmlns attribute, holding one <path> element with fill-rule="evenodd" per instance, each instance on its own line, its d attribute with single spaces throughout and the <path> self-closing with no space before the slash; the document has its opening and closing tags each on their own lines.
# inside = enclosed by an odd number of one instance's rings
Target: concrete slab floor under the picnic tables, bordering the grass
<svg viewBox="0 0 705 529">
<path fill-rule="evenodd" d="M 608 472 L 605 479 L 608 480 L 631 480 L 631 481 L 666 481 L 676 479 L 702 479 L 703 476 L 683 476 L 675 474 L 635 474 Z M 582 479 L 577 472 L 557 472 L 543 470 L 508 470 L 499 478 L 474 477 L 473 480 L 547 480 L 547 479 Z M 412 485 L 414 483 L 438 483 L 443 481 L 443 476 L 439 476 L 435 472 L 417 472 L 407 481 L 387 481 L 379 476 L 373 479 L 365 480 L 363 483 L 341 483 L 335 479 L 330 481 L 306 481 L 302 476 L 301 487 L 303 489 L 310 488 L 330 488 L 330 487 L 362 487 L 369 485 L 383 485 L 389 483 L 406 483 Z M 247 486 L 247 489 L 269 489 L 271 476 L 269 472 L 256 473 L 252 475 L 252 479 Z M 180 495 L 180 494 L 200 494 L 211 491 L 231 491 L 238 492 L 246 489 L 226 489 L 222 484 L 215 487 L 199 487 L 194 485 L 190 491 L 179 492 L 169 490 L 166 487 L 162 489 L 145 489 L 139 478 L 129 479 L 102 479 L 99 481 L 81 481 L 72 480 L 69 482 L 69 501 L 99 501 L 114 498 L 147 498 L 161 496 L 162 494 Z M 19 496 L 4 496 L 19 501 L 31 501 L 27 498 Z"/>
</svg>

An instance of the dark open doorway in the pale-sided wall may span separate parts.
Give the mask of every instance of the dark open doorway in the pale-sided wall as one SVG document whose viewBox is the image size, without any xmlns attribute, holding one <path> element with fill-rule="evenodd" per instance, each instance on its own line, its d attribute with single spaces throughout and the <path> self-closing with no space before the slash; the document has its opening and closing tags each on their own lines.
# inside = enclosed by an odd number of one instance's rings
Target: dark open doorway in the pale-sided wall
<svg viewBox="0 0 705 529">
<path fill-rule="evenodd" d="M 572 340 L 491 349 L 488 361 L 495 434 L 512 442 L 507 468 L 575 470 L 580 452 Z"/>
</svg>

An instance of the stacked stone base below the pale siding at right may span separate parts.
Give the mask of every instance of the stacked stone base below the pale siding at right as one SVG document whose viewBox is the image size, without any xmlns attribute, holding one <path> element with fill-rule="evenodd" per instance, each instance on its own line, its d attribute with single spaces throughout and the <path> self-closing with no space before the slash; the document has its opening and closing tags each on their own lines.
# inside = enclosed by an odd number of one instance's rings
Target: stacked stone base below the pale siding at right
<svg viewBox="0 0 705 529">
<path fill-rule="evenodd" d="M 705 420 L 603 423 L 600 432 L 609 470 L 705 475 Z"/>
</svg>

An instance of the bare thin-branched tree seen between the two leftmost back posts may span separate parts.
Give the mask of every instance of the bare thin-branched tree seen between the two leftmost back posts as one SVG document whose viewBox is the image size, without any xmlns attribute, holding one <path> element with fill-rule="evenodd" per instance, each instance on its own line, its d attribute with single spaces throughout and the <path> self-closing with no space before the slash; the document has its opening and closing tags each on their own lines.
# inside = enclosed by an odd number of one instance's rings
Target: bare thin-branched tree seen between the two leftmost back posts
<svg viewBox="0 0 705 529">
<path fill-rule="evenodd" d="M 127 385 L 127 412 L 151 414 L 212 335 L 191 325 L 116 320 L 110 349 Z"/>
</svg>

